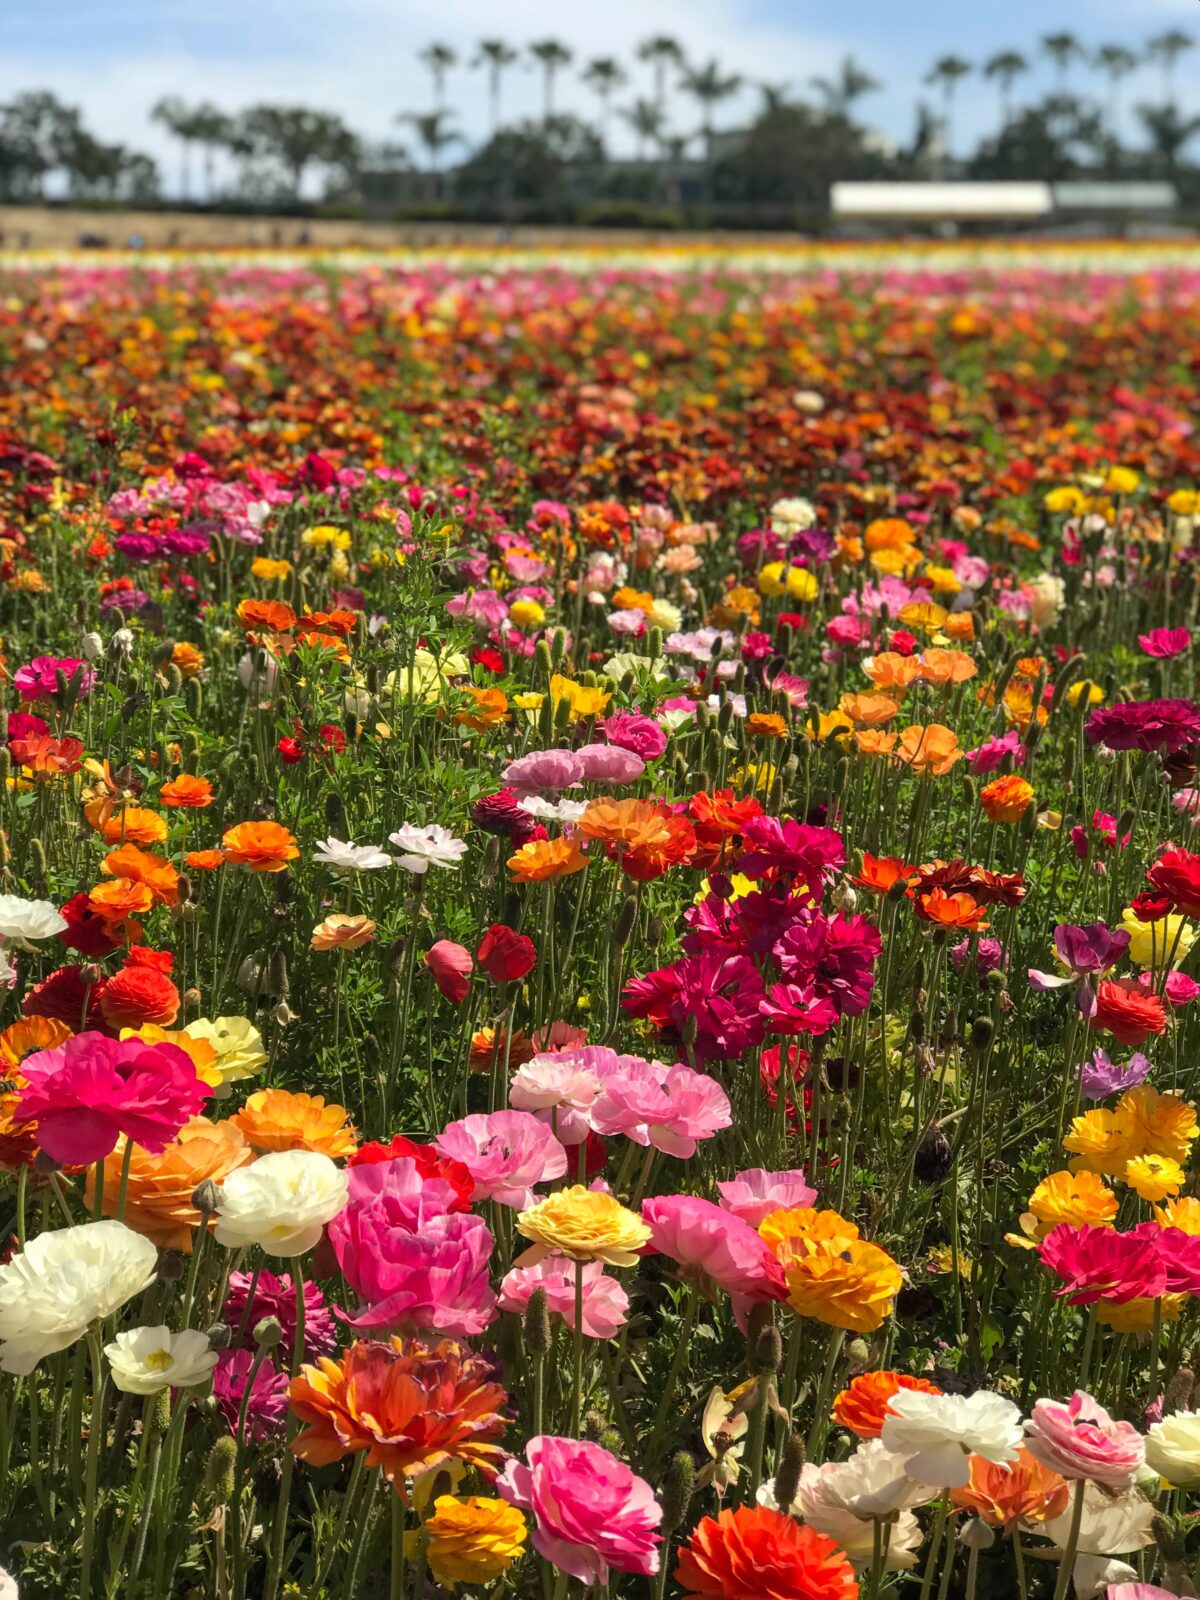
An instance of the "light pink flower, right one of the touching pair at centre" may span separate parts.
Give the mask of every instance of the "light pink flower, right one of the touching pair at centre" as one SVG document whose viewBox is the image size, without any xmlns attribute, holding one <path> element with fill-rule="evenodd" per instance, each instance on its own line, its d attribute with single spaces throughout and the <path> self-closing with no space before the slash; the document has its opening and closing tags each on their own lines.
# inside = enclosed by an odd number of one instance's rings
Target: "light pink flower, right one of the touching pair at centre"
<svg viewBox="0 0 1200 1600">
<path fill-rule="evenodd" d="M 730 1098 L 715 1078 L 677 1062 L 621 1056 L 605 1074 L 592 1106 L 597 1133 L 624 1133 L 634 1144 L 688 1160 L 699 1139 L 710 1139 L 733 1122 Z"/>
</svg>

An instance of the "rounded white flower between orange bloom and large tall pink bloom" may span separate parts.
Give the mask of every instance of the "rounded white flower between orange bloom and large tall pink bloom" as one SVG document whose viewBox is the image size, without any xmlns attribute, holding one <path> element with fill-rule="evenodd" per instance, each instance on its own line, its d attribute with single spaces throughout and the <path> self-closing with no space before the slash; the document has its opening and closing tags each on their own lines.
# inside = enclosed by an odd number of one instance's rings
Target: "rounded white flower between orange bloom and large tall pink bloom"
<svg viewBox="0 0 1200 1600">
<path fill-rule="evenodd" d="M 216 1242 L 302 1256 L 346 1205 L 346 1173 L 315 1150 L 272 1150 L 230 1173 L 218 1190 Z"/>
</svg>

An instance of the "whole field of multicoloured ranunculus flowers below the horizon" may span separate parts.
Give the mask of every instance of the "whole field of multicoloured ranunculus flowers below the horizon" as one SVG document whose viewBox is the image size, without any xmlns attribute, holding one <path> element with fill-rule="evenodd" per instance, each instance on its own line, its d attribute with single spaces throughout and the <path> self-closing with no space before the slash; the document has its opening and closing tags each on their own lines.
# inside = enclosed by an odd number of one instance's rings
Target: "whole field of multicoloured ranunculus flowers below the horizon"
<svg viewBox="0 0 1200 1600">
<path fill-rule="evenodd" d="M 0 1595 L 1200 1582 L 1200 262 L 0 266 Z"/>
</svg>

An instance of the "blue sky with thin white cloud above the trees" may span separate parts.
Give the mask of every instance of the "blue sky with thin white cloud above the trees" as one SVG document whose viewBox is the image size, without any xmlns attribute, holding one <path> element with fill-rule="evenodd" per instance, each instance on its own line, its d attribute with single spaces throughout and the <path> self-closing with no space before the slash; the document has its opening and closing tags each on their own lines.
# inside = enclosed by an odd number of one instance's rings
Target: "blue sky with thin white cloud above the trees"
<svg viewBox="0 0 1200 1600">
<path fill-rule="evenodd" d="M 400 138 L 394 117 L 426 110 L 432 90 L 416 59 L 432 38 L 474 54 L 480 37 L 514 45 L 562 38 L 581 61 L 624 58 L 629 101 L 650 86 L 634 58 L 637 40 L 666 32 L 696 59 L 717 56 L 747 80 L 790 82 L 829 72 L 848 51 L 883 80 L 862 101 L 864 120 L 893 138 L 907 138 L 922 77 L 946 51 L 982 61 L 1002 48 L 1037 58 L 1043 34 L 1070 30 L 1086 45 L 1138 48 L 1168 26 L 1200 38 L 1200 0 L 3 0 L 0 5 L 0 98 L 21 88 L 51 88 L 83 107 L 106 139 L 149 149 L 174 171 L 170 142 L 149 120 L 165 93 L 213 99 L 237 109 L 256 99 L 304 102 L 341 112 L 373 139 Z M 1077 70 L 1077 80 L 1085 77 Z M 1094 82 L 1094 80 L 1091 80 Z M 1181 98 L 1200 109 L 1200 50 L 1179 72 Z M 1018 90 L 1018 99 L 1051 86 L 1045 61 Z M 1123 88 L 1126 107 L 1158 91 L 1146 69 Z M 486 126 L 483 78 L 466 69 L 451 75 L 450 101 L 467 139 Z M 594 101 L 565 74 L 563 109 L 590 112 Z M 747 88 L 718 114 L 736 125 L 755 106 Z M 506 80 L 506 112 L 533 114 L 539 78 L 522 64 Z M 994 126 L 992 85 L 968 78 L 955 112 L 955 141 Z M 694 126 L 694 107 L 675 101 L 680 130 Z M 1131 125 L 1131 123 L 1130 123 Z"/>
</svg>

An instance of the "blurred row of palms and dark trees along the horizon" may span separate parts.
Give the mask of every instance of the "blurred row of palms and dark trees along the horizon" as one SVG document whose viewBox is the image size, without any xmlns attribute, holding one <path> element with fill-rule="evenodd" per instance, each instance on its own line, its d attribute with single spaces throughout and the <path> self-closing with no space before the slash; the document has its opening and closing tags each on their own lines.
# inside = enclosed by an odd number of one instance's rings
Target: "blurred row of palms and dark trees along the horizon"
<svg viewBox="0 0 1200 1600">
<path fill-rule="evenodd" d="M 896 144 L 861 120 L 861 102 L 882 85 L 853 58 L 797 91 L 790 82 L 747 80 L 717 59 L 693 61 L 669 35 L 645 38 L 630 62 L 578 61 L 557 38 L 523 48 L 485 38 L 474 53 L 430 43 L 419 59 L 432 106 L 398 114 L 406 138 L 384 146 L 365 142 L 334 112 L 275 104 L 226 112 L 206 99 L 160 99 L 150 115 L 179 150 L 170 179 L 152 157 L 93 136 L 80 112 L 53 93 L 32 91 L 0 106 L 0 197 L 40 200 L 53 192 L 142 203 L 166 190 L 187 203 L 274 205 L 299 200 L 315 176 L 326 197 L 354 200 L 381 171 L 421 174 L 421 182 L 408 184 L 408 198 L 467 208 L 501 200 L 562 210 L 581 195 L 677 205 L 685 182 L 691 198 L 706 202 L 805 203 L 824 198 L 830 181 L 854 176 L 1165 176 L 1190 194 L 1200 179 L 1187 149 L 1200 117 L 1181 112 L 1176 78 L 1194 46 L 1179 29 L 1136 50 L 1088 48 L 1058 32 L 1030 53 L 1005 50 L 978 62 L 946 54 L 923 80 L 931 98 L 918 99 L 912 138 Z M 1053 67 L 1053 88 L 1019 104 L 1038 56 Z M 541 115 L 512 122 L 504 117 L 504 91 L 522 62 L 539 74 Z M 1157 82 L 1133 107 L 1141 144 L 1128 147 L 1122 96 L 1139 67 L 1154 69 Z M 464 74 L 482 75 L 486 93 L 488 133 L 475 149 L 467 149 L 451 104 Z M 955 109 L 970 77 L 995 91 L 995 125 L 973 150 L 960 150 Z M 589 94 L 586 114 L 562 109 L 568 82 Z M 746 88 L 757 90 L 757 112 L 722 136 L 718 114 Z M 618 123 L 629 130 L 635 160 L 613 158 Z M 446 173 L 450 150 L 459 155 Z"/>
</svg>

